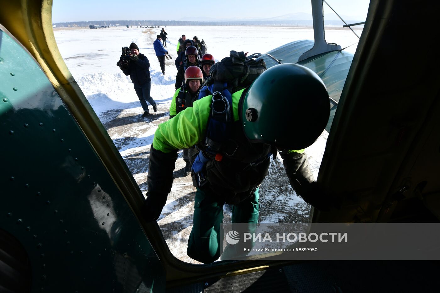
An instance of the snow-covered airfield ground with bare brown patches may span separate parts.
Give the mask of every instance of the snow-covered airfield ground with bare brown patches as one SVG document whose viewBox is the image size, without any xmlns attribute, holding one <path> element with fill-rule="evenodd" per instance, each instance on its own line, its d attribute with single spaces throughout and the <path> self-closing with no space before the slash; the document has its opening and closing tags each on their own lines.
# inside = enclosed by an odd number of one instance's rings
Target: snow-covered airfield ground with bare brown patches
<svg viewBox="0 0 440 293">
<path fill-rule="evenodd" d="M 154 132 L 161 122 L 168 120 L 169 105 L 174 94 L 176 79 L 177 40 L 182 34 L 187 38 L 204 39 L 208 52 L 216 61 L 229 55 L 229 51 L 264 53 L 294 40 L 313 40 L 311 27 L 286 26 L 169 26 L 167 50 L 172 60 L 165 60 L 162 75 L 154 53 L 153 41 L 160 28 L 78 28 L 55 30 L 59 51 L 73 77 L 92 105 L 121 156 L 132 171 L 139 188 L 145 194 L 148 172 L 148 154 Z M 360 35 L 361 30 L 357 33 Z M 340 44 L 354 53 L 358 38 L 348 29 L 326 29 L 326 40 Z M 158 104 L 158 112 L 140 117 L 143 110 L 133 89 L 130 77 L 125 76 L 116 62 L 121 48 L 135 42 L 139 51 L 150 61 L 151 97 Z M 353 45 L 354 44 L 354 45 Z M 315 178 L 321 164 L 327 133 L 309 147 L 309 157 Z M 180 153 L 180 157 L 182 154 Z M 186 255 L 187 240 L 192 228 L 195 188 L 191 176 L 183 177 L 184 163 L 176 162 L 174 183 L 167 203 L 158 220 L 162 234 L 171 252 L 180 260 L 198 263 Z M 310 206 L 297 197 L 284 173 L 281 158 L 271 161 L 264 183 L 260 186 L 260 222 L 306 223 Z M 224 208 L 224 222 L 230 222 L 230 208 Z"/>
</svg>

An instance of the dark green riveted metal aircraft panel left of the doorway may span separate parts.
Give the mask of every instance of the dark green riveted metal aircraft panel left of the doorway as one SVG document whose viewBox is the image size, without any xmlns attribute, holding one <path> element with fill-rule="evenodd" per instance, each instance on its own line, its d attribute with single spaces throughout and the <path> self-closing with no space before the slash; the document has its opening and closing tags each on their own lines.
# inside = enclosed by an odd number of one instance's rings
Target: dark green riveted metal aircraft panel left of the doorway
<svg viewBox="0 0 440 293">
<path fill-rule="evenodd" d="M 33 292 L 160 292 L 165 271 L 37 62 L 0 30 L 0 229 Z"/>
</svg>

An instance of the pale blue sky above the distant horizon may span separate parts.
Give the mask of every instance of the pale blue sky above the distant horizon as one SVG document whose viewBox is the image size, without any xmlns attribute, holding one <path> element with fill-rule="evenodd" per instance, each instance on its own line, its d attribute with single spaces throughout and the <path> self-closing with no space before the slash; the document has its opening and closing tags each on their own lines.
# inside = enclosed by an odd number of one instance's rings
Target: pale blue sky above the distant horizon
<svg viewBox="0 0 440 293">
<path fill-rule="evenodd" d="M 367 16 L 369 0 L 326 0 L 339 15 Z M 270 18 L 296 12 L 311 13 L 310 0 L 214 0 L 193 1 L 194 11 L 184 9 L 187 0 L 53 0 L 52 22 L 93 20 L 198 20 Z M 202 8 L 195 8 L 202 3 Z M 251 8 L 252 7 L 252 8 Z M 185 10 L 185 12 L 183 12 Z M 200 12 L 205 11 L 205 12 Z M 226 12 L 227 11 L 227 12 Z M 330 9 L 324 4 L 324 13 Z M 192 19 L 191 19 L 192 18 Z M 357 19 L 357 18 L 356 18 Z"/>
</svg>

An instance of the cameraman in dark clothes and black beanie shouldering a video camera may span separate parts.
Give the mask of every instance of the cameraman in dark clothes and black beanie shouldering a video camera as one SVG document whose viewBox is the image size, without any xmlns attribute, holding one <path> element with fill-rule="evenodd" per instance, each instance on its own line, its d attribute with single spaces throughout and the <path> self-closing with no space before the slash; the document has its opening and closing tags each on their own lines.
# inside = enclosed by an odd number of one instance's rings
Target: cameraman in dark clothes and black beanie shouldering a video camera
<svg viewBox="0 0 440 293">
<path fill-rule="evenodd" d="M 154 112 L 158 110 L 156 102 L 150 97 L 151 78 L 150 70 L 148 70 L 150 62 L 145 55 L 139 53 L 139 47 L 135 43 L 130 44 L 130 54 L 128 56 L 130 60 L 128 68 L 123 68 L 122 66 L 119 66 L 119 68 L 132 79 L 136 94 L 144 111 L 142 117 L 147 117 L 150 114 L 147 102 L 153 106 Z"/>
</svg>

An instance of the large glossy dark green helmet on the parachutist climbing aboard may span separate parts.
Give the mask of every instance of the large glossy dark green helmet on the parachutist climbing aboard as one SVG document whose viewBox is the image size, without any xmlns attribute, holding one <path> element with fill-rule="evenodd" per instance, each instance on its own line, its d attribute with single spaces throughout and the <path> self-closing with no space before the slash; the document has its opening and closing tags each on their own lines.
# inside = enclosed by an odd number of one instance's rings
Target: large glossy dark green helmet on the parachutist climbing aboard
<svg viewBox="0 0 440 293">
<path fill-rule="evenodd" d="M 241 120 L 252 142 L 301 150 L 321 135 L 330 101 L 319 76 L 298 64 L 280 64 L 261 73 L 246 93 Z"/>
</svg>

